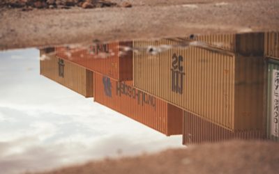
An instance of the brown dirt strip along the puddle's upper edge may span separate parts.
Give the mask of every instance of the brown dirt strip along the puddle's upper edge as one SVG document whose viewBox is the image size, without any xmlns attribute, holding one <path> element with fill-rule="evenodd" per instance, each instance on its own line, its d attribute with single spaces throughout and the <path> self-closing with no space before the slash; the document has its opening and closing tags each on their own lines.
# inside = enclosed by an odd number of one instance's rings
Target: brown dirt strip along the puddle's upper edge
<svg viewBox="0 0 279 174">
<path fill-rule="evenodd" d="M 130 3 L 132 8 L 30 11 L 0 8 L 0 50 L 192 33 L 278 31 L 279 28 L 278 0 L 134 0 Z"/>
</svg>

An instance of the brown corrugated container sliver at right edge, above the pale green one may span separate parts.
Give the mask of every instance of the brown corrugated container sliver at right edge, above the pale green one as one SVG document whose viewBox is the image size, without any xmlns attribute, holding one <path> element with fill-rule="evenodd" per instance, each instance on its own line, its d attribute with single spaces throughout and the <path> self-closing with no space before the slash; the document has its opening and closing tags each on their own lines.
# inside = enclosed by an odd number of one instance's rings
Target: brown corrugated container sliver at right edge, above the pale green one
<svg viewBox="0 0 279 174">
<path fill-rule="evenodd" d="M 264 35 L 264 54 L 279 59 L 279 32 L 269 32 Z"/>
</svg>

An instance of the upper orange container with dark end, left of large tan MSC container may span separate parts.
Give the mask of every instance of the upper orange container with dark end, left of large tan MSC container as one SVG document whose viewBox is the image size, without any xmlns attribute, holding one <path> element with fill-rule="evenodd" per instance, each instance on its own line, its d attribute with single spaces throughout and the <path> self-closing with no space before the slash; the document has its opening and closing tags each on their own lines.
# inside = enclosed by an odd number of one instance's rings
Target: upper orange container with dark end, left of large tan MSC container
<svg viewBox="0 0 279 174">
<path fill-rule="evenodd" d="M 112 79 L 126 81 L 133 80 L 133 54 L 123 50 L 131 46 L 132 42 L 111 42 L 91 45 L 88 49 L 56 47 L 56 56 Z"/>
</svg>

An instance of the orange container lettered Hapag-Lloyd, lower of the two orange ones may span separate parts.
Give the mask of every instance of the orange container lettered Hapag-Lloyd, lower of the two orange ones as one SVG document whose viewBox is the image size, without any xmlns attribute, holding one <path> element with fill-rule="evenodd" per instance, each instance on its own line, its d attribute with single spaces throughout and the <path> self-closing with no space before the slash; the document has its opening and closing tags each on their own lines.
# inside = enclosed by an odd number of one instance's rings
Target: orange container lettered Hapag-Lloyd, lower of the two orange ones
<svg viewBox="0 0 279 174">
<path fill-rule="evenodd" d="M 94 74 L 94 101 L 118 111 L 163 134 L 182 133 L 183 111 L 132 87 L 132 81 L 115 81 Z"/>
</svg>

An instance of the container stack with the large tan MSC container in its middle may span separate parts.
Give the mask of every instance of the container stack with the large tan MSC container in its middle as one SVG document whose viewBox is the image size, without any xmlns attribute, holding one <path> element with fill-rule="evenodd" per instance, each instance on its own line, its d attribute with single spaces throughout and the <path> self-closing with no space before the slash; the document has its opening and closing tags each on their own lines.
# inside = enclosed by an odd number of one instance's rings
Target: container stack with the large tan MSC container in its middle
<svg viewBox="0 0 279 174">
<path fill-rule="evenodd" d="M 199 47 L 185 47 L 191 43 Z M 184 42 L 137 40 L 133 45 L 153 50 L 172 45 L 157 54 L 134 54 L 133 80 L 135 88 L 184 110 L 184 143 L 264 138 L 263 33 L 199 36 Z"/>
</svg>

